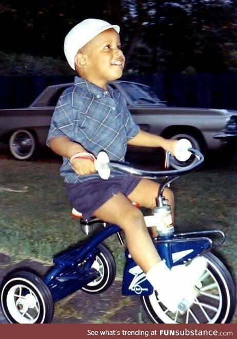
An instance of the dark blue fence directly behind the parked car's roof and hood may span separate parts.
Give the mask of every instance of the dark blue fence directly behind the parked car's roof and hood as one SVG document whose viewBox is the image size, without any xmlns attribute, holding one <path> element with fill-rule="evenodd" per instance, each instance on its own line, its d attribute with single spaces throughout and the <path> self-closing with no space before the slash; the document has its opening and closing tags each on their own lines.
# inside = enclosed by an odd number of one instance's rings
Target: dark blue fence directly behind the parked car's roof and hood
<svg viewBox="0 0 237 339">
<path fill-rule="evenodd" d="M 169 105 L 237 110 L 237 74 L 129 75 L 125 80 L 150 85 Z M 48 85 L 72 76 L 1 76 L 0 109 L 28 106 Z"/>
</svg>

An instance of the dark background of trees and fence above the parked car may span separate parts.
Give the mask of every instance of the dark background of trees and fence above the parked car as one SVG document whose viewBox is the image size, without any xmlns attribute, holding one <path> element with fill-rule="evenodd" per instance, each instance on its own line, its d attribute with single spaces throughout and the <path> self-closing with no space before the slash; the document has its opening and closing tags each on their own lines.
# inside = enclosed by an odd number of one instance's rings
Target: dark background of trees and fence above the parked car
<svg viewBox="0 0 237 339">
<path fill-rule="evenodd" d="M 73 81 L 66 33 L 88 17 L 121 26 L 124 79 L 170 105 L 237 109 L 236 0 L 0 1 L 0 108 Z"/>
</svg>

